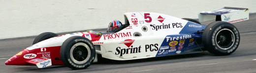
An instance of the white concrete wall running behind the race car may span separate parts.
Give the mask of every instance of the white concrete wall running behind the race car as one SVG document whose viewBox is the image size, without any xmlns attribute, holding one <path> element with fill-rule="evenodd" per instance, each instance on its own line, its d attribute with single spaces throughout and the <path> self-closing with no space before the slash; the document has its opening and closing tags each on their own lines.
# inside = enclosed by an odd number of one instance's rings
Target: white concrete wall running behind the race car
<svg viewBox="0 0 256 73">
<path fill-rule="evenodd" d="M 256 12 L 256 0 L 0 0 L 0 39 L 106 28 L 126 12 L 197 18 L 224 6 Z"/>
</svg>

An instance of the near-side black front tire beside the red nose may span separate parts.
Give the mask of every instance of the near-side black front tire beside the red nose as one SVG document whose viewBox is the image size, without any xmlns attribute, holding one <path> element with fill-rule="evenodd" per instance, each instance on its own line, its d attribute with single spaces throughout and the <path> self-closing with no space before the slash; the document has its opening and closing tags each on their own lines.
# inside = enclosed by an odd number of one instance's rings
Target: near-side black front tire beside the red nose
<svg viewBox="0 0 256 73">
<path fill-rule="evenodd" d="M 63 42 L 60 55 L 65 66 L 80 70 L 93 63 L 96 51 L 94 44 L 88 38 L 73 36 Z"/>
</svg>

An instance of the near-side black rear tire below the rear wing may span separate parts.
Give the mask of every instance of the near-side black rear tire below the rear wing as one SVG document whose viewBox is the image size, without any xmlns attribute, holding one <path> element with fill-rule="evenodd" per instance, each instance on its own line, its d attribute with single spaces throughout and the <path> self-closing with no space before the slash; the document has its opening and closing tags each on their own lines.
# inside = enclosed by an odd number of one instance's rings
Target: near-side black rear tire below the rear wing
<svg viewBox="0 0 256 73">
<path fill-rule="evenodd" d="M 202 42 L 204 48 L 214 55 L 230 55 L 237 49 L 240 35 L 233 24 L 215 21 L 203 31 Z"/>
</svg>

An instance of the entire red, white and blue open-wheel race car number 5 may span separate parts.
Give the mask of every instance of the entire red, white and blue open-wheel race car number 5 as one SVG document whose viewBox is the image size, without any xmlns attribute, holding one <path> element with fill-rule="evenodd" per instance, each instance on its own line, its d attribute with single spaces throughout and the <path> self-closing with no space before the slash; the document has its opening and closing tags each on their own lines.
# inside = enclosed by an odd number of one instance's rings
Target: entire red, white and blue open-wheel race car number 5
<svg viewBox="0 0 256 73">
<path fill-rule="evenodd" d="M 50 32 L 42 33 L 35 37 L 32 46 L 12 56 L 5 65 L 36 65 L 38 68 L 65 65 L 77 70 L 97 62 L 99 55 L 113 60 L 183 55 L 202 51 L 209 51 L 214 55 L 230 55 L 239 45 L 239 31 L 229 21 L 223 21 L 220 16 L 233 13 L 228 10 L 245 12 L 248 9 L 222 9 L 224 10 L 202 12 L 199 15 L 203 18 L 207 18 L 207 15 L 210 15 L 210 18 L 216 16 L 217 21 L 208 25 L 202 25 L 191 18 L 130 12 L 124 14 L 125 23 L 114 31 L 87 31 L 60 36 Z M 249 19 L 249 16 L 246 19 Z M 232 20 L 232 17 L 229 16 L 229 20 Z"/>
</svg>

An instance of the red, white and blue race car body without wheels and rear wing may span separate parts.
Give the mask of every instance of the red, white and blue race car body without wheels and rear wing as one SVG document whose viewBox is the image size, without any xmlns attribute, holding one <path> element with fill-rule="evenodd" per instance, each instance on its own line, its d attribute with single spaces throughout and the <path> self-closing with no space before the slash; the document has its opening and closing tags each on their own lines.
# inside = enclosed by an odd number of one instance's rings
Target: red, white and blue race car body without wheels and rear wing
<svg viewBox="0 0 256 73">
<path fill-rule="evenodd" d="M 205 29 L 205 25 L 158 13 L 132 12 L 125 13 L 124 16 L 126 22 L 123 26 L 126 27 L 120 31 L 99 35 L 89 31 L 52 37 L 24 49 L 5 64 L 33 64 L 39 68 L 63 65 L 62 60 L 58 59 L 61 46 L 67 38 L 73 36 L 90 39 L 95 45 L 97 55 L 113 60 L 202 52 L 200 32 Z"/>
</svg>

